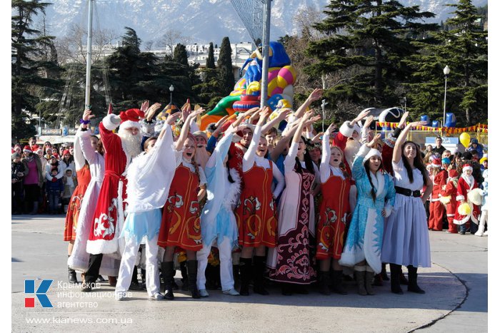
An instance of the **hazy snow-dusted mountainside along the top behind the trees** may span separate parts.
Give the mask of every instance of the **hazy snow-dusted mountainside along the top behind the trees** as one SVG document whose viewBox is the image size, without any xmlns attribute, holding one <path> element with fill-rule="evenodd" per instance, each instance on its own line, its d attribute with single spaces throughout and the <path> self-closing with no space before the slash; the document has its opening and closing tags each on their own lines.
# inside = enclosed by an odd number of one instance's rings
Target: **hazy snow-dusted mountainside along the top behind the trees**
<svg viewBox="0 0 500 333">
<path fill-rule="evenodd" d="M 258 0 L 246 0 L 251 1 Z M 71 24 L 86 26 L 87 0 L 49 0 L 46 9 L 49 34 L 61 37 Z M 444 4 L 456 0 L 400 0 L 405 6 L 420 6 L 421 10 L 436 14 L 433 22 L 445 21 L 452 8 Z M 484 6 L 487 0 L 474 0 Z M 271 39 L 294 34 L 299 28 L 294 17 L 306 7 L 321 10 L 329 0 L 273 0 L 271 3 Z M 41 16 L 34 21 L 40 22 Z M 111 29 L 121 36 L 124 27 L 137 32 L 142 41 L 157 41 L 169 29 L 189 36 L 191 43 L 220 43 L 224 36 L 231 42 L 251 41 L 230 0 L 96 0 L 94 1 L 94 27 Z"/>
</svg>

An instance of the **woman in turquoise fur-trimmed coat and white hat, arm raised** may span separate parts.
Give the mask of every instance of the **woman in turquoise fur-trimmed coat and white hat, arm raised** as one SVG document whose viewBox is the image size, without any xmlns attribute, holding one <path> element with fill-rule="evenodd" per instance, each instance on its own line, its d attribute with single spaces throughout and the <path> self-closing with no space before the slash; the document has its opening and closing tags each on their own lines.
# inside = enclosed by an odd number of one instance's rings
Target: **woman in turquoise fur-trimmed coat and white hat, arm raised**
<svg viewBox="0 0 500 333">
<path fill-rule="evenodd" d="M 354 266 L 354 275 L 361 295 L 374 294 L 371 280 L 381 272 L 381 247 L 384 235 L 384 217 L 391 214 L 394 205 L 394 183 L 382 168 L 381 153 L 372 147 L 379 140 L 376 135 L 359 149 L 352 165 L 358 198 L 347 234 L 340 265 Z"/>
</svg>

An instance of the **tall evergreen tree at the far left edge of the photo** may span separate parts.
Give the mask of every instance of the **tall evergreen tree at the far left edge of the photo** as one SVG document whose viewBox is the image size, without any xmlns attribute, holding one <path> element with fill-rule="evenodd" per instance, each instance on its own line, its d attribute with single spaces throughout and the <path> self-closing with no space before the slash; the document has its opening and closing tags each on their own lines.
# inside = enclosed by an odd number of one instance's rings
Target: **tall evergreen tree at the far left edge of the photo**
<svg viewBox="0 0 500 333">
<path fill-rule="evenodd" d="M 44 48 L 53 46 L 53 36 L 34 29 L 33 19 L 44 14 L 49 3 L 40 0 L 11 1 L 11 133 L 15 139 L 36 133 L 26 112 L 36 113 L 36 104 L 53 95 L 60 85 L 54 57 L 44 58 Z"/>
</svg>

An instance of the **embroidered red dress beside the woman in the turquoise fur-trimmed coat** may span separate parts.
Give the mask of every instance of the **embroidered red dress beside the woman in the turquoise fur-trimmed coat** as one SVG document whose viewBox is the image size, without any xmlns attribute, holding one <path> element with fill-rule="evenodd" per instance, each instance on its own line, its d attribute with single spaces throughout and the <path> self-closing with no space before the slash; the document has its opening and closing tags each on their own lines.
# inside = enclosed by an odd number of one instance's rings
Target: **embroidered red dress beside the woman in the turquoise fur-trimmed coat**
<svg viewBox="0 0 500 333">
<path fill-rule="evenodd" d="M 351 179 L 333 175 L 321 183 L 323 200 L 319 207 L 318 231 L 316 232 L 316 258 L 329 257 L 339 260 L 344 249 L 344 233 L 351 213 L 349 208 L 349 189 Z"/>
</svg>

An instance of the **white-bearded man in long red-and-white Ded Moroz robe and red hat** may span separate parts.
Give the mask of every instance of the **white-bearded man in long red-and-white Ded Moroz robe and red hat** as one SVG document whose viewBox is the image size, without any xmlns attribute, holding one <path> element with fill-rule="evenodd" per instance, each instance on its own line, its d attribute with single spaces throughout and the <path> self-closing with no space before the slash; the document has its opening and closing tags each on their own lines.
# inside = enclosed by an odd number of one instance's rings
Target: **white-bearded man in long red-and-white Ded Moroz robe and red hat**
<svg viewBox="0 0 500 333">
<path fill-rule="evenodd" d="M 104 180 L 94 212 L 94 225 L 91 228 L 87 252 L 89 269 L 85 275 L 83 291 L 91 291 L 99 276 L 103 254 L 120 259 L 118 237 L 124 225 L 124 200 L 126 199 L 126 170 L 132 158 L 141 153 L 139 119 L 144 112 L 132 108 L 119 116 L 109 114 L 99 124 L 99 132 L 106 154 L 104 155 Z M 113 133 L 118 126 L 118 134 Z"/>
</svg>

